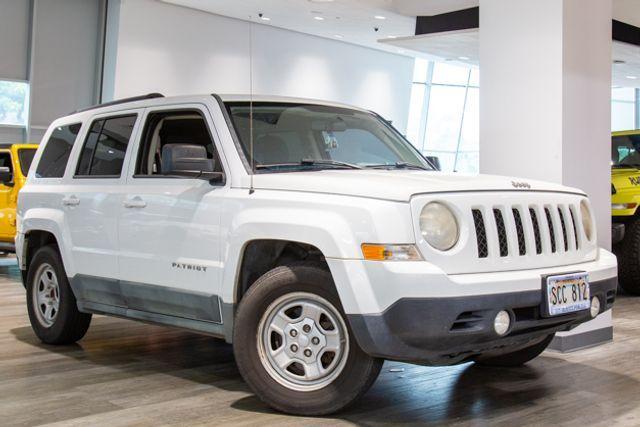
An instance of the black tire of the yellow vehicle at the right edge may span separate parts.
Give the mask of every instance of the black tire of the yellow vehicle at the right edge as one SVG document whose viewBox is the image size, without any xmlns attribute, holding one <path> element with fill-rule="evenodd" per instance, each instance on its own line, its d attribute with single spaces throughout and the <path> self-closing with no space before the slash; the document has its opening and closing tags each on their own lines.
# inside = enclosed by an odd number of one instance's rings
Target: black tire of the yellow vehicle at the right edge
<svg viewBox="0 0 640 427">
<path fill-rule="evenodd" d="M 640 220 L 627 224 L 622 242 L 616 245 L 620 287 L 631 295 L 640 295 Z"/>
</svg>

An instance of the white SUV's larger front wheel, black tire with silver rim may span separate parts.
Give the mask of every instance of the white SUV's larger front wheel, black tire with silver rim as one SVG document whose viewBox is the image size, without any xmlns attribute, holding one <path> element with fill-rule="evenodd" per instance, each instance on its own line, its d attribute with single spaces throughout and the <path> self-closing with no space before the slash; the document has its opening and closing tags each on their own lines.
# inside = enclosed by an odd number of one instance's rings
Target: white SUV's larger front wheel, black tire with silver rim
<svg viewBox="0 0 640 427">
<path fill-rule="evenodd" d="M 280 332 L 269 327 L 283 319 Z M 323 341 L 314 347 L 318 344 L 314 338 Z M 292 344 L 297 353 L 289 352 Z M 258 398 L 294 415 L 326 415 L 347 407 L 371 387 L 383 363 L 358 346 L 331 274 L 306 263 L 274 268 L 249 288 L 236 313 L 233 346 L 240 373 Z M 328 350 L 332 346 L 340 350 Z M 303 361 L 304 351 L 311 348 L 311 359 L 306 360 L 316 360 L 315 364 Z M 287 357 L 283 367 L 276 366 L 274 353 Z M 303 379 L 301 373 L 315 372 L 314 366 L 327 373 L 315 380 Z"/>
</svg>

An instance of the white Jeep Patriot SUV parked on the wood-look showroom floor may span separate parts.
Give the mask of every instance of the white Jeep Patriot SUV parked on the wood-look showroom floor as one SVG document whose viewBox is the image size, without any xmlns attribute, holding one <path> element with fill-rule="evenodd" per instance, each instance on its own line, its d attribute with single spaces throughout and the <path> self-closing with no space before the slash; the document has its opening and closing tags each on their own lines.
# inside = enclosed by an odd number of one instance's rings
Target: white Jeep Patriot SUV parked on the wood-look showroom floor
<svg viewBox="0 0 640 427">
<path fill-rule="evenodd" d="M 384 359 L 516 366 L 611 308 L 586 195 L 435 171 L 368 111 L 158 94 L 56 120 L 18 203 L 38 337 L 92 313 L 224 338 L 269 405 L 337 411 Z"/>
</svg>

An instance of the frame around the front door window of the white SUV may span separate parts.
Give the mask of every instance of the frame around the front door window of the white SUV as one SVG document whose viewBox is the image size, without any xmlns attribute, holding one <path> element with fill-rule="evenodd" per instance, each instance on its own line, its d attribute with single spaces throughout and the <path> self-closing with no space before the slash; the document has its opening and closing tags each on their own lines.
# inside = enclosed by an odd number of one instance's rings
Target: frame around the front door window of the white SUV
<svg viewBox="0 0 640 427">
<path fill-rule="evenodd" d="M 140 164 L 144 161 L 145 153 L 147 149 L 147 124 L 149 122 L 149 118 L 156 114 L 176 114 L 176 115 L 184 115 L 184 114 L 198 114 L 204 121 L 205 127 L 207 128 L 207 133 L 211 140 L 211 144 L 214 149 L 214 155 L 216 156 L 216 161 L 220 165 L 222 169 L 223 179 L 219 183 L 212 183 L 211 185 L 214 187 L 224 187 L 227 184 L 227 172 L 226 166 L 223 161 L 222 147 L 218 144 L 216 137 L 214 136 L 213 124 L 210 123 L 210 120 L 207 118 L 207 110 L 202 105 L 194 105 L 194 104 L 186 104 L 186 105 L 163 105 L 156 108 L 148 108 L 145 110 L 143 117 L 140 121 L 140 131 L 138 136 L 138 143 L 134 148 L 136 150 L 135 159 L 132 159 L 130 162 L 130 177 L 133 179 L 171 179 L 171 180 L 197 180 L 197 181 L 206 181 L 206 178 L 195 178 L 190 176 L 180 176 L 180 175 L 148 175 L 148 174 L 140 174 L 138 170 L 140 169 Z"/>
</svg>

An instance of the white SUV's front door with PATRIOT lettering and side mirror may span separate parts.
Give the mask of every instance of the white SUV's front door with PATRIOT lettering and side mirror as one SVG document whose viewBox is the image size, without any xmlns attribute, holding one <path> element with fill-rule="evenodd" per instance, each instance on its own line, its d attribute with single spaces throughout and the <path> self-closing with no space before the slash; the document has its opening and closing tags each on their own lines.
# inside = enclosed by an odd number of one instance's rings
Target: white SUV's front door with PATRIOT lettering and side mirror
<svg viewBox="0 0 640 427">
<path fill-rule="evenodd" d="M 222 321 L 219 227 L 226 187 L 194 178 L 198 168 L 222 172 L 210 125 L 200 105 L 145 114 L 119 214 L 120 286 L 130 310 Z"/>
</svg>

